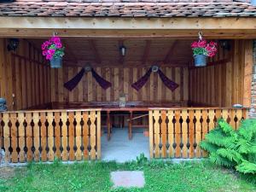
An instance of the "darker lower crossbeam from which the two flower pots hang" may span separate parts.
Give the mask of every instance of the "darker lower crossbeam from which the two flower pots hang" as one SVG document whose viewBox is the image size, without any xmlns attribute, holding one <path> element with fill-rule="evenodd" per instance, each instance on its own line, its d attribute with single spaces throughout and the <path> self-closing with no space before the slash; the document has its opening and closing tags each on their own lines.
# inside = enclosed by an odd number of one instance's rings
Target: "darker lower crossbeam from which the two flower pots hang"
<svg viewBox="0 0 256 192">
<path fill-rule="evenodd" d="M 0 17 L 1 19 L 1 17 Z M 26 29 L 26 28 L 1 28 L 0 38 L 49 38 L 53 31 L 58 32 L 61 38 L 175 38 L 175 39 L 197 39 L 199 30 L 187 29 Z M 256 38 L 256 29 L 229 30 L 214 29 L 202 30 L 206 39 L 247 39 Z"/>
</svg>

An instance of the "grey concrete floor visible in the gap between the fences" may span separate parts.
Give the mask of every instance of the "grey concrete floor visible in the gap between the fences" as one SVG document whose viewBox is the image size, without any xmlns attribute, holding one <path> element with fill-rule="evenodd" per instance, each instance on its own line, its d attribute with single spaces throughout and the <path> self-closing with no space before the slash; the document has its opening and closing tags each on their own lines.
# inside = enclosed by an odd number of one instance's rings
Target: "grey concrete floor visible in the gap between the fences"
<svg viewBox="0 0 256 192">
<path fill-rule="evenodd" d="M 143 135 L 143 129 L 133 129 L 132 139 L 128 138 L 128 130 L 125 128 L 113 128 L 112 136 L 108 141 L 107 134 L 102 136 L 102 160 L 115 160 L 119 163 L 136 160 L 140 154 L 149 158 L 148 137 Z"/>
</svg>

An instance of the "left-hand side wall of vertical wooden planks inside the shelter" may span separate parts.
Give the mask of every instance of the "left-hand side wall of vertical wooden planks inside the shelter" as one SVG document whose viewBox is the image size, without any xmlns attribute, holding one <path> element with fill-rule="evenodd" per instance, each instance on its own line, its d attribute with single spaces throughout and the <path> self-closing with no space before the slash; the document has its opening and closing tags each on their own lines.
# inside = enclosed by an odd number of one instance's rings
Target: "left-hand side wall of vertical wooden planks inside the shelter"
<svg viewBox="0 0 256 192">
<path fill-rule="evenodd" d="M 7 99 L 8 109 L 39 108 L 50 102 L 49 66 L 41 51 L 23 39 L 15 52 L 9 52 L 7 44 L 8 39 L 0 38 L 0 97 Z"/>
</svg>

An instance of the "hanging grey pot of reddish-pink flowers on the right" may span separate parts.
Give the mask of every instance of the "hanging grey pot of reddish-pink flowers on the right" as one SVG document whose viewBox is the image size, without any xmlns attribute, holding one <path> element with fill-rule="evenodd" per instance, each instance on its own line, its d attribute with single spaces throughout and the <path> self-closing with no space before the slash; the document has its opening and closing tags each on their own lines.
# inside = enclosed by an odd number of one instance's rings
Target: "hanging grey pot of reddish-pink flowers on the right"
<svg viewBox="0 0 256 192">
<path fill-rule="evenodd" d="M 212 57 L 217 53 L 217 43 L 211 41 L 207 44 L 204 39 L 193 42 L 191 48 L 195 59 L 195 67 L 207 66 L 207 56 Z"/>
</svg>

